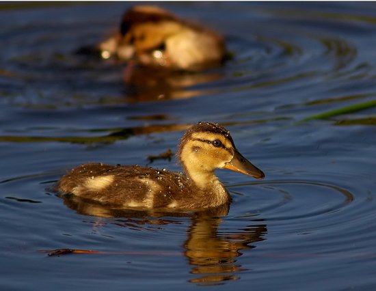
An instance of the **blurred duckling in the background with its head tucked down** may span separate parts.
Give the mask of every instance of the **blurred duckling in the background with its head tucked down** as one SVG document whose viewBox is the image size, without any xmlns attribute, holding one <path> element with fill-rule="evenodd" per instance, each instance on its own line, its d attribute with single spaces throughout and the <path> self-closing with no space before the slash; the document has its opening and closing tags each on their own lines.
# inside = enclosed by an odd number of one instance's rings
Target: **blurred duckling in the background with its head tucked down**
<svg viewBox="0 0 376 291">
<path fill-rule="evenodd" d="M 152 5 L 128 10 L 120 31 L 98 47 L 105 59 L 115 55 L 127 61 L 135 56 L 144 66 L 178 70 L 213 66 L 226 57 L 224 39 L 219 34 Z"/>
</svg>

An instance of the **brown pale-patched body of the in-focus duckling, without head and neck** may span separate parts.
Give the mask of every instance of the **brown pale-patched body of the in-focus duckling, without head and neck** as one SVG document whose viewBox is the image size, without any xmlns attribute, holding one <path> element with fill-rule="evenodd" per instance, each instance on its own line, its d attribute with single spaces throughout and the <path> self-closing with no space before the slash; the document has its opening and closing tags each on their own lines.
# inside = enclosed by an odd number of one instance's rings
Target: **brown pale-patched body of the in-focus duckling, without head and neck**
<svg viewBox="0 0 376 291">
<path fill-rule="evenodd" d="M 150 167 L 88 163 L 72 169 L 56 184 L 71 193 L 124 208 L 180 208 L 190 200 L 184 176 Z"/>
</svg>

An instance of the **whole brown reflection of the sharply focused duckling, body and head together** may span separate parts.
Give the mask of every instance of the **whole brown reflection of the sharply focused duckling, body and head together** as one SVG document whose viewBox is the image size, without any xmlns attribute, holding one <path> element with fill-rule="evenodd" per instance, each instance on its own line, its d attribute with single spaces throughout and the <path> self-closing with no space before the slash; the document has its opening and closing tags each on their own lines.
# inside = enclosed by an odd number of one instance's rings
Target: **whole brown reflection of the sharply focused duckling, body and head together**
<svg viewBox="0 0 376 291">
<path fill-rule="evenodd" d="M 117 210 L 110 206 L 91 202 L 74 195 L 64 195 L 64 204 L 80 214 L 97 217 L 116 217 L 113 223 L 133 229 L 150 230 L 146 225 L 166 225 L 181 223 L 173 217 L 190 217 L 191 225 L 187 230 L 187 240 L 183 247 L 185 256 L 191 265 L 191 274 L 197 275 L 189 279 L 191 283 L 212 284 L 222 281 L 236 280 L 237 273 L 243 271 L 237 264 L 237 257 L 242 249 L 253 249 L 252 243 L 264 240 L 267 234 L 265 224 L 247 225 L 237 232 L 219 233 L 219 225 L 228 214 L 229 205 L 211 208 L 204 212 L 142 212 L 139 210 Z M 150 219 L 150 217 L 153 217 Z M 172 217 L 165 219 L 164 217 Z"/>
</svg>

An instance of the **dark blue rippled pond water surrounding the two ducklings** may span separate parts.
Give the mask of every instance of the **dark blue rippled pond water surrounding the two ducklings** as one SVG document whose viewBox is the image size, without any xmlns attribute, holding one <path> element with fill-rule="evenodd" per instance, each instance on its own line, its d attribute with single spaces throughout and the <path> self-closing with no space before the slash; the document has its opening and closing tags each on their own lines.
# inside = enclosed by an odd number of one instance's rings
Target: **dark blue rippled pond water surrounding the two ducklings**
<svg viewBox="0 0 376 291">
<path fill-rule="evenodd" d="M 1 290 L 375 290 L 375 3 L 161 3 L 234 58 L 124 83 L 122 64 L 72 52 L 130 5 L 0 5 Z M 267 176 L 218 171 L 226 215 L 109 213 L 46 190 L 81 163 L 146 165 L 200 120 Z M 40 252 L 60 248 L 102 253 Z"/>
</svg>

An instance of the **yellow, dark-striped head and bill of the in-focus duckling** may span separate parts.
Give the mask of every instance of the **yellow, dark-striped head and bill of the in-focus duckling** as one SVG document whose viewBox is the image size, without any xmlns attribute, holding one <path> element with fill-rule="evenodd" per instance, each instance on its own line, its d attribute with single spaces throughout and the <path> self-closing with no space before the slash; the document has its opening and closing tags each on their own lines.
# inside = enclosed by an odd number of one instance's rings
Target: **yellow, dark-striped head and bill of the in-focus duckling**
<svg viewBox="0 0 376 291">
<path fill-rule="evenodd" d="M 199 122 L 189 128 L 180 140 L 178 158 L 193 181 L 213 176 L 215 169 L 230 169 L 257 179 L 263 171 L 244 158 L 234 145 L 226 128 L 211 122 Z M 215 176 L 214 176 L 215 177 Z"/>
</svg>

